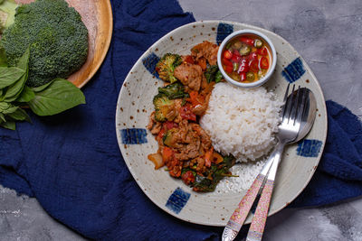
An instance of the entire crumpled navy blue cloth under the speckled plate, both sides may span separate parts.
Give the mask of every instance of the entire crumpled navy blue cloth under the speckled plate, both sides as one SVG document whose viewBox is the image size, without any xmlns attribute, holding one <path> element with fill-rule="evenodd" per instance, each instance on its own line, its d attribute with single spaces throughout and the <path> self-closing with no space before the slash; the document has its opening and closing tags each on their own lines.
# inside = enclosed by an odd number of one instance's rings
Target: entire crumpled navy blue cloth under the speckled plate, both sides
<svg viewBox="0 0 362 241">
<path fill-rule="evenodd" d="M 176 0 L 112 1 L 113 40 L 84 88 L 87 105 L 33 125 L 0 129 L 0 184 L 39 200 L 53 218 L 104 240 L 204 240 L 222 228 L 186 223 L 158 209 L 138 188 L 119 152 L 119 89 L 139 56 L 167 32 L 195 21 Z M 294 207 L 362 194 L 361 125 L 329 101 L 329 137 L 319 169 Z"/>
</svg>

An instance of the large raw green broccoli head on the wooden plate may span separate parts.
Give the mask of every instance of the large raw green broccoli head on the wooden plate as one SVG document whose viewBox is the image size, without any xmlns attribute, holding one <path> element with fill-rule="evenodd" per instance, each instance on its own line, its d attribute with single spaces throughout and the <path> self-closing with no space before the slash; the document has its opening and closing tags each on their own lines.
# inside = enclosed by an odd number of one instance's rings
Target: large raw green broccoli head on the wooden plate
<svg viewBox="0 0 362 241">
<path fill-rule="evenodd" d="M 9 65 L 30 47 L 26 85 L 37 87 L 81 68 L 88 55 L 88 30 L 64 0 L 37 0 L 17 7 L 14 24 L 5 29 L 0 44 Z"/>
</svg>

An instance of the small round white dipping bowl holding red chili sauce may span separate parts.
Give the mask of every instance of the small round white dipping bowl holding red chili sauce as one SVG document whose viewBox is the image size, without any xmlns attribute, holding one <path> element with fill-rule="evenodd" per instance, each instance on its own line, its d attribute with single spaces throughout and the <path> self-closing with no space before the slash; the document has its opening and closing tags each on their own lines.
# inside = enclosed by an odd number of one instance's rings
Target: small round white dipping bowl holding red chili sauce
<svg viewBox="0 0 362 241">
<path fill-rule="evenodd" d="M 266 70 L 265 75 L 261 78 L 258 79 L 256 81 L 253 82 L 249 82 L 249 81 L 237 81 L 232 79 L 224 70 L 223 67 L 223 53 L 225 50 L 225 46 L 227 46 L 229 44 L 229 42 L 233 42 L 235 39 L 237 38 L 241 38 L 241 37 L 249 37 L 252 39 L 258 39 L 261 40 L 264 44 L 267 44 L 267 50 L 268 50 L 268 55 L 269 55 L 269 68 Z M 247 45 L 247 44 L 245 44 Z M 251 48 L 253 46 L 250 46 Z M 263 46 L 264 47 L 264 46 Z M 269 48 L 268 48 L 269 47 Z M 245 57 L 242 57 L 243 59 L 246 59 Z M 261 69 L 261 63 L 260 63 L 260 57 L 258 55 L 258 68 Z M 232 60 L 230 60 L 232 62 Z M 245 60 L 247 62 L 247 64 L 250 64 L 251 60 L 247 59 Z M 232 62 L 233 63 L 233 62 Z M 275 51 L 274 45 L 272 44 L 271 40 L 265 36 L 262 32 L 257 32 L 255 30 L 250 30 L 250 29 L 244 29 L 244 30 L 240 30 L 240 31 L 236 31 L 233 32 L 232 34 L 230 34 L 229 36 L 227 36 L 224 41 L 221 43 L 220 47 L 219 47 L 219 51 L 217 52 L 217 65 L 219 67 L 219 70 L 221 71 L 221 73 L 224 76 L 224 79 L 226 79 L 229 83 L 238 86 L 238 87 L 242 87 L 242 88 L 256 88 L 261 86 L 262 84 L 264 84 L 266 81 L 268 81 L 268 79 L 271 78 L 272 73 L 275 70 L 275 66 L 277 63 L 277 53 Z M 240 68 L 240 67 L 239 67 Z"/>
</svg>

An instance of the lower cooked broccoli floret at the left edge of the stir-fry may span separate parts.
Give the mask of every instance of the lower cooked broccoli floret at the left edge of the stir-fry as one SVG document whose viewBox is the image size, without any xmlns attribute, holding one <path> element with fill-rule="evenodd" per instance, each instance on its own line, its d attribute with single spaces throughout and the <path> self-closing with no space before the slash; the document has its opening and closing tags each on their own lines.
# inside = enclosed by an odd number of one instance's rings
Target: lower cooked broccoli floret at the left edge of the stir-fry
<svg viewBox="0 0 362 241">
<path fill-rule="evenodd" d="M 157 121 L 173 120 L 176 116 L 176 112 L 173 111 L 175 107 L 175 101 L 169 99 L 167 96 L 158 94 L 153 98 L 153 104 L 155 105 L 155 119 Z"/>
</svg>

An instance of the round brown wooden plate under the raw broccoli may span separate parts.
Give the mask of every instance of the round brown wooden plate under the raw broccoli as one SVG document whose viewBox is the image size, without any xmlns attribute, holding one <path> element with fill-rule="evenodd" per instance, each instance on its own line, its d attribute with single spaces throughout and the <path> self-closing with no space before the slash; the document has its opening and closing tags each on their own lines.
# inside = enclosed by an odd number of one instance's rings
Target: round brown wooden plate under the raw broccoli
<svg viewBox="0 0 362 241">
<path fill-rule="evenodd" d="M 34 0 L 16 0 L 18 4 L 29 4 Z M 106 57 L 112 37 L 113 17 L 110 0 L 66 0 L 81 14 L 81 20 L 88 29 L 88 59 L 81 70 L 73 73 L 68 80 L 75 86 L 83 87 L 100 68 Z"/>
</svg>

